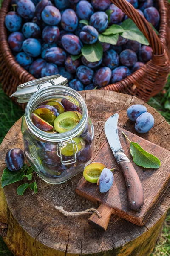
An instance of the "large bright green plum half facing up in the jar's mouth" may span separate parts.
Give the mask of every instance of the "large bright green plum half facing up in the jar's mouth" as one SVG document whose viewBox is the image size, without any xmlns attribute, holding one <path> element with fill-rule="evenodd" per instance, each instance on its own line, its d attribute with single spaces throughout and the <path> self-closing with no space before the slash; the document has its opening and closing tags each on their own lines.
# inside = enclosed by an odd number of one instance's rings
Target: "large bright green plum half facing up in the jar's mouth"
<svg viewBox="0 0 170 256">
<path fill-rule="evenodd" d="M 72 130 L 80 122 L 79 116 L 73 111 L 67 111 L 59 116 L 54 121 L 54 128 L 59 133 Z"/>
</svg>

